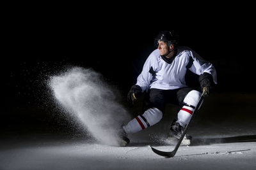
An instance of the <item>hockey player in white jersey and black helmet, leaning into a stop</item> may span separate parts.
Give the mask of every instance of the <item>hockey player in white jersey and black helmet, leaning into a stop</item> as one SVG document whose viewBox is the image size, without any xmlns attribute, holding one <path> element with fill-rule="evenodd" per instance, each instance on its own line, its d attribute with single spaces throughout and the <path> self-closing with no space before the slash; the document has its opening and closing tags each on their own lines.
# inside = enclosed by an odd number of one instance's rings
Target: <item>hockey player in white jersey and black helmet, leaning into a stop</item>
<svg viewBox="0 0 256 170">
<path fill-rule="evenodd" d="M 169 132 L 172 137 L 180 137 L 201 95 L 201 92 L 186 85 L 187 69 L 200 75 L 200 87 L 206 87 L 207 95 L 212 83 L 217 83 L 214 66 L 190 48 L 177 46 L 177 37 L 172 32 L 159 32 L 156 44 L 157 49 L 148 56 L 136 85 L 132 85 L 127 95 L 127 101 L 133 103 L 136 97 L 146 92 L 143 113 L 123 127 L 124 131 L 120 134 L 122 146 L 129 143 L 128 134 L 157 124 L 163 117 L 164 107 L 168 102 L 182 105 Z"/>
</svg>

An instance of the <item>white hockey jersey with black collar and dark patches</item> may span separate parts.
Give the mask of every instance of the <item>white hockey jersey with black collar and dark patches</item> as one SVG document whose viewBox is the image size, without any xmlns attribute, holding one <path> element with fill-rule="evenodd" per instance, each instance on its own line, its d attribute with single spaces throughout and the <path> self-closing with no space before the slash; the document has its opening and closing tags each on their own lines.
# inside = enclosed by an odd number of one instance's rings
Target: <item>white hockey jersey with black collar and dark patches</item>
<svg viewBox="0 0 256 170">
<path fill-rule="evenodd" d="M 174 57 L 174 58 L 173 58 Z M 185 82 L 186 70 L 195 74 L 209 73 L 214 83 L 217 83 L 216 69 L 210 62 L 205 61 L 187 46 L 177 46 L 177 53 L 172 62 L 164 60 L 159 50 L 154 50 L 147 58 L 136 85 L 142 91 L 147 89 L 179 89 L 187 87 Z"/>
</svg>

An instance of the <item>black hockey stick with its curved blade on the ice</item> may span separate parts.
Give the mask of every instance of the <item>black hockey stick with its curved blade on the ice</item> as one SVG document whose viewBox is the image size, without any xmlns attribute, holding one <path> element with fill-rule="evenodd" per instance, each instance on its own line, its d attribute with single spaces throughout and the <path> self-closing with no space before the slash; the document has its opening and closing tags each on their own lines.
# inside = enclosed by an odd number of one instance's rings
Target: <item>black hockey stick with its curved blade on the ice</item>
<svg viewBox="0 0 256 170">
<path fill-rule="evenodd" d="M 175 146 L 174 150 L 172 152 L 164 152 L 164 151 L 157 150 L 156 148 L 153 148 L 152 146 L 150 146 L 154 153 L 156 153 L 157 155 L 161 155 L 163 157 L 174 157 L 177 150 L 179 149 L 180 143 L 182 142 L 184 136 L 186 135 L 186 132 L 188 131 L 188 127 L 189 127 L 190 122 L 192 121 L 193 117 L 195 117 L 196 112 L 198 111 L 199 107 L 201 106 L 201 104 L 203 102 L 205 94 L 206 94 L 206 87 L 204 87 L 203 93 L 200 96 L 200 99 L 199 99 L 198 104 L 196 105 L 195 111 L 194 111 L 193 115 L 191 116 L 188 124 L 186 125 L 184 131 L 182 132 L 182 135 L 180 136 L 180 139 L 179 139 L 177 145 Z"/>
</svg>

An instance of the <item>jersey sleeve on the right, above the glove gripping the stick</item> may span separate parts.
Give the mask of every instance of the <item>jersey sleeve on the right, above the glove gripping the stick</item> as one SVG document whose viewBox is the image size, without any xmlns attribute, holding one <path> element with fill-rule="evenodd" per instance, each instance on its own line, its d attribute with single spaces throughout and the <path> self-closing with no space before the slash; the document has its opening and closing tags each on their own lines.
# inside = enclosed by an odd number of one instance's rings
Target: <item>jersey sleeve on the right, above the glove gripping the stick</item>
<svg viewBox="0 0 256 170">
<path fill-rule="evenodd" d="M 200 57 L 200 55 L 193 50 L 189 52 L 189 62 L 187 67 L 190 71 L 198 75 L 203 73 L 211 74 L 212 80 L 215 84 L 217 84 L 217 74 L 214 66 L 211 64 L 211 62 L 202 59 L 202 57 Z"/>
</svg>

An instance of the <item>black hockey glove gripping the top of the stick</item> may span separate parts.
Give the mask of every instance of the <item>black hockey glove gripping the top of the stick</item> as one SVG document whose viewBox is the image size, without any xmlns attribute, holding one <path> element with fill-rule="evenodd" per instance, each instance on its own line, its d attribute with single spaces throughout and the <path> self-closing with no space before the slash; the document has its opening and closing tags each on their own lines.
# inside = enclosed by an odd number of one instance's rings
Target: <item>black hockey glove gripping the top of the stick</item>
<svg viewBox="0 0 256 170">
<path fill-rule="evenodd" d="M 209 73 L 203 73 L 199 76 L 199 83 L 201 90 L 203 92 L 204 87 L 206 87 L 206 94 L 205 96 L 209 96 L 211 89 L 212 89 L 212 75 Z"/>
</svg>

